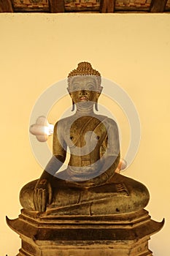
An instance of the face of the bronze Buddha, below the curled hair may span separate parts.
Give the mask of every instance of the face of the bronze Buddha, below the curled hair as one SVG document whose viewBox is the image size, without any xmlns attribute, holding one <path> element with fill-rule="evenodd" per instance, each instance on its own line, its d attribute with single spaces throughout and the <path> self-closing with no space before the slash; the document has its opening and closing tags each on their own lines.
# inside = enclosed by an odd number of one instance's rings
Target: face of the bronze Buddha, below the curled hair
<svg viewBox="0 0 170 256">
<path fill-rule="evenodd" d="M 96 102 L 100 92 L 97 91 L 96 78 L 93 76 L 77 76 L 72 80 L 69 91 L 74 103 Z"/>
</svg>

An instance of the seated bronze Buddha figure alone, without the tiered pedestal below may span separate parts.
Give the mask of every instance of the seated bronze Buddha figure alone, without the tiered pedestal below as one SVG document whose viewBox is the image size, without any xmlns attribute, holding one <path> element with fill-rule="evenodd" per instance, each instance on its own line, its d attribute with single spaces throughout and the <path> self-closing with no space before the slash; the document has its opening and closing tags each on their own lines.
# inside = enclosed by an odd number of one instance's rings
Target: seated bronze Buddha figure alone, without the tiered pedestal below
<svg viewBox="0 0 170 256">
<path fill-rule="evenodd" d="M 117 124 L 98 111 L 101 75 L 81 62 L 68 76 L 72 116 L 59 120 L 53 132 L 53 157 L 42 176 L 20 191 L 26 211 L 43 215 L 125 214 L 147 206 L 143 184 L 117 173 L 120 142 Z M 60 171 L 69 147 L 66 170 Z"/>
</svg>

